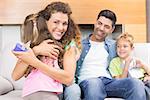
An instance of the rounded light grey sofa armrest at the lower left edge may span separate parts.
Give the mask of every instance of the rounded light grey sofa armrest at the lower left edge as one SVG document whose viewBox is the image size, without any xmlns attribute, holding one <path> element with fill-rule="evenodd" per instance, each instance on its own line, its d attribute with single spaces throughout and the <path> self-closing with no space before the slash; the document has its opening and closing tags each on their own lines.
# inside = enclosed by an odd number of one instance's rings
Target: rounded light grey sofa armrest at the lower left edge
<svg viewBox="0 0 150 100">
<path fill-rule="evenodd" d="M 8 93 L 11 90 L 13 90 L 12 83 L 0 76 L 0 95 Z"/>
</svg>

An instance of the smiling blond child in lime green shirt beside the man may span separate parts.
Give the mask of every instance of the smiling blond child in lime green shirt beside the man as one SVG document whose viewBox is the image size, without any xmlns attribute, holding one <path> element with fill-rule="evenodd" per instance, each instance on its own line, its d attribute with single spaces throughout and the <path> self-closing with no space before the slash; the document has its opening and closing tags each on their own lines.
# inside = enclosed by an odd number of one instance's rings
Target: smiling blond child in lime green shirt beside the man
<svg viewBox="0 0 150 100">
<path fill-rule="evenodd" d="M 150 97 L 150 67 L 131 56 L 134 49 L 133 36 L 123 33 L 117 38 L 117 55 L 112 59 L 109 71 L 114 78 L 138 78 L 145 83 L 147 98 Z M 147 100 L 150 100 L 147 99 Z"/>
</svg>

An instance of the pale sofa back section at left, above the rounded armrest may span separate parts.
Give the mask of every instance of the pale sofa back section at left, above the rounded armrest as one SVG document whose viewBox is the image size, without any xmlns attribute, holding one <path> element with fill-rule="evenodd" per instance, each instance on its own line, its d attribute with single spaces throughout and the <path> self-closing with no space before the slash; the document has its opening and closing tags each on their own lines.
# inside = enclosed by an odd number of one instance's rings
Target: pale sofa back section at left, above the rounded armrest
<svg viewBox="0 0 150 100">
<path fill-rule="evenodd" d="M 18 81 L 13 81 L 11 78 L 11 73 L 17 62 L 17 58 L 12 53 L 12 49 L 14 48 L 15 44 L 16 43 L 11 42 L 6 44 L 4 48 L 2 48 L 2 64 L 0 66 L 0 75 L 9 80 L 13 84 L 14 89 L 22 89 L 24 78 Z"/>
</svg>

